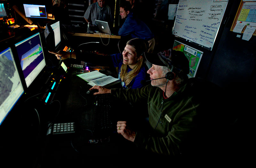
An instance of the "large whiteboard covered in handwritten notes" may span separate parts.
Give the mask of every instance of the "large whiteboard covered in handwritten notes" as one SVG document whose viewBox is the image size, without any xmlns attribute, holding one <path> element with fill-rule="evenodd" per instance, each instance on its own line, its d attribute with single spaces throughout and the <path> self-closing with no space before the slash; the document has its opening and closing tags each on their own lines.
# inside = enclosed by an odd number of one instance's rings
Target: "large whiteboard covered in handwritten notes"
<svg viewBox="0 0 256 168">
<path fill-rule="evenodd" d="M 180 0 L 172 34 L 212 50 L 228 0 Z"/>
</svg>

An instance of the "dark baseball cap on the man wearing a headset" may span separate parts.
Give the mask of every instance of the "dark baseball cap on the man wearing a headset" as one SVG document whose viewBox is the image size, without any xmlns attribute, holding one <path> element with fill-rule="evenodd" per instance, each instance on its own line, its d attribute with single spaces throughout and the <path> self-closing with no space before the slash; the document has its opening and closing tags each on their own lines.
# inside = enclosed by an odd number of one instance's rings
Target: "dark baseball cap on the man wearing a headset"
<svg viewBox="0 0 256 168">
<path fill-rule="evenodd" d="M 155 53 L 145 53 L 145 57 L 151 64 L 165 66 L 169 69 L 176 68 L 177 73 L 187 75 L 189 73 L 189 62 L 185 54 L 176 50 L 165 50 Z"/>
</svg>

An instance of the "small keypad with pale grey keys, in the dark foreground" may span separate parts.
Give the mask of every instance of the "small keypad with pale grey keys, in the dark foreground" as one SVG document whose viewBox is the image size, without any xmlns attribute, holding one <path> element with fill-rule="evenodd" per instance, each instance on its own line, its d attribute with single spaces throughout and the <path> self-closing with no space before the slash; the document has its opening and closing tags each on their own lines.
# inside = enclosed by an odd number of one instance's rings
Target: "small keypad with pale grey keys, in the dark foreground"
<svg viewBox="0 0 256 168">
<path fill-rule="evenodd" d="M 47 135 L 49 134 L 66 134 L 66 133 L 75 133 L 75 123 L 55 123 L 49 124 L 49 129 Z"/>
</svg>

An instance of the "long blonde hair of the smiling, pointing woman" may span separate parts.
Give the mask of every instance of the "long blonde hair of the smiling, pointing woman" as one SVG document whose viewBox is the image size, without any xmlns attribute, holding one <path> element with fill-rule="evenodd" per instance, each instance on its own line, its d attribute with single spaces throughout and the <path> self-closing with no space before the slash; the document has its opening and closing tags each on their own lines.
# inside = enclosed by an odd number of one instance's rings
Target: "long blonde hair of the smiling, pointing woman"
<svg viewBox="0 0 256 168">
<path fill-rule="evenodd" d="M 133 38 L 129 40 L 126 45 L 131 45 L 136 51 L 136 57 L 142 56 L 142 59 L 138 60 L 135 67 L 129 72 L 128 65 L 122 65 L 120 71 L 120 78 L 125 83 L 125 86 L 129 86 L 132 79 L 139 74 L 140 68 L 144 63 L 144 52 L 148 49 L 148 42 L 140 38 Z"/>
</svg>

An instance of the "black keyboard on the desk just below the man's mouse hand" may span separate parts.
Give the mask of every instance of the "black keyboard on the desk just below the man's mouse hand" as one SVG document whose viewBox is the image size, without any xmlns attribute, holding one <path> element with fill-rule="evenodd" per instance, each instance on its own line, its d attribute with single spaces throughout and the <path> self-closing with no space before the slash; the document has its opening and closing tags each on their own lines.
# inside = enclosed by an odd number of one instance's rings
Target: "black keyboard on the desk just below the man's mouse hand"
<svg viewBox="0 0 256 168">
<path fill-rule="evenodd" d="M 104 131 L 113 127 L 110 93 L 95 95 L 93 131 Z"/>
</svg>

